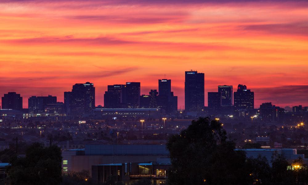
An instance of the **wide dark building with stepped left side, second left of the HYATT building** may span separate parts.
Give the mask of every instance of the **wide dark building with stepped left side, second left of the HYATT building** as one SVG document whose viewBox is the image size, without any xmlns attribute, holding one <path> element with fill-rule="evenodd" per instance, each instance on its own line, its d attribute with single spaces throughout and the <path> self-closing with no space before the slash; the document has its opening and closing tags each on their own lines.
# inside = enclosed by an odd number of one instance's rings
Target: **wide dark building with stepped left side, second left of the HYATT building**
<svg viewBox="0 0 308 185">
<path fill-rule="evenodd" d="M 105 108 L 124 108 L 126 104 L 126 85 L 108 85 L 104 94 Z"/>
</svg>

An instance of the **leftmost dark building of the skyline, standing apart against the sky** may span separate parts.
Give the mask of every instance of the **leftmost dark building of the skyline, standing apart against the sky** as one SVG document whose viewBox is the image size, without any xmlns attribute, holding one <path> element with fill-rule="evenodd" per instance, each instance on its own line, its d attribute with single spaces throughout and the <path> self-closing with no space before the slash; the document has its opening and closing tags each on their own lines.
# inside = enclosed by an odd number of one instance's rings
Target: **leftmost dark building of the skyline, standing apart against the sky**
<svg viewBox="0 0 308 185">
<path fill-rule="evenodd" d="M 22 109 L 22 97 L 16 92 L 8 92 L 2 97 L 2 109 Z"/>
</svg>

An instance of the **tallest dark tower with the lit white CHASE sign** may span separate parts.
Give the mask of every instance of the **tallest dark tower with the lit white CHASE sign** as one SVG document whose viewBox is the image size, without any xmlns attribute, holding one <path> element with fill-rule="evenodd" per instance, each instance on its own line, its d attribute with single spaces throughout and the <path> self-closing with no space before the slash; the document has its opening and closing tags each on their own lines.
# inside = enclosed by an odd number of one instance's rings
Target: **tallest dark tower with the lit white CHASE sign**
<svg viewBox="0 0 308 185">
<path fill-rule="evenodd" d="M 204 109 L 204 73 L 185 71 L 185 110 L 201 112 Z"/>
</svg>

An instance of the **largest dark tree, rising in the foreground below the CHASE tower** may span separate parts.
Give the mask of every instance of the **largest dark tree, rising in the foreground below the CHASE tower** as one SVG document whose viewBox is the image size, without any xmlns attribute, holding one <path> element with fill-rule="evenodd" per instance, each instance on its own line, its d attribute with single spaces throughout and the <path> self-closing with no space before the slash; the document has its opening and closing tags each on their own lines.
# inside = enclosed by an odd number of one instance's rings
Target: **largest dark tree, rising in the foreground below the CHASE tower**
<svg viewBox="0 0 308 185">
<path fill-rule="evenodd" d="M 180 184 L 252 184 L 246 170 L 245 153 L 235 151 L 221 123 L 209 118 L 192 121 L 186 130 L 169 138 L 172 168 L 168 183 Z"/>
</svg>

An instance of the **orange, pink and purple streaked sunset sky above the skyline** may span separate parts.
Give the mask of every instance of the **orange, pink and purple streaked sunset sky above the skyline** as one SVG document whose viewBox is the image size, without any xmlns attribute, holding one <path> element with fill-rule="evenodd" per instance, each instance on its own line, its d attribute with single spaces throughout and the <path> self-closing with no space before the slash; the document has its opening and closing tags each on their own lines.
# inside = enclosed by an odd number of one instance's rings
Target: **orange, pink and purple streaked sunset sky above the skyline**
<svg viewBox="0 0 308 185">
<path fill-rule="evenodd" d="M 92 82 L 172 80 L 184 108 L 184 71 L 217 85 L 247 85 L 255 107 L 308 106 L 307 1 L 1 0 L 0 95 L 57 96 Z M 1 99 L 0 99 L 1 101 Z"/>
</svg>

